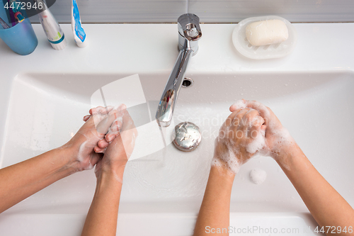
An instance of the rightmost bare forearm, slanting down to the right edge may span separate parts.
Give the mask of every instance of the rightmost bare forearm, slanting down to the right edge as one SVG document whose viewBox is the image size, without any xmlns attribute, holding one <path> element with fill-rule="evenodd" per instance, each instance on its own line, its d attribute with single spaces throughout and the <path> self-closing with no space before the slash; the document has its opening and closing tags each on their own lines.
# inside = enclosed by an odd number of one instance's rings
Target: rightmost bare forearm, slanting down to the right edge
<svg viewBox="0 0 354 236">
<path fill-rule="evenodd" d="M 289 168 L 282 168 L 295 189 L 322 226 L 354 227 L 354 210 L 324 179 L 298 148 L 288 157 Z M 338 233 L 336 234 L 338 235 Z M 349 234 L 346 234 L 349 235 Z"/>
</svg>

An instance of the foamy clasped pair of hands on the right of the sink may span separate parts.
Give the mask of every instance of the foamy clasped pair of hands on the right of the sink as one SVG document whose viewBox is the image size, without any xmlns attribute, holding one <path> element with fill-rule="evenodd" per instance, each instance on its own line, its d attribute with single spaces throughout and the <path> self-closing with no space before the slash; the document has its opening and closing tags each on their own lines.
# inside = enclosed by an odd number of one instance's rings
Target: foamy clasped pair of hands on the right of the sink
<svg viewBox="0 0 354 236">
<path fill-rule="evenodd" d="M 236 173 L 259 152 L 286 168 L 286 157 L 298 146 L 273 111 L 258 101 L 246 100 L 234 103 L 229 110 L 232 113 L 215 140 L 214 160 Z"/>
</svg>

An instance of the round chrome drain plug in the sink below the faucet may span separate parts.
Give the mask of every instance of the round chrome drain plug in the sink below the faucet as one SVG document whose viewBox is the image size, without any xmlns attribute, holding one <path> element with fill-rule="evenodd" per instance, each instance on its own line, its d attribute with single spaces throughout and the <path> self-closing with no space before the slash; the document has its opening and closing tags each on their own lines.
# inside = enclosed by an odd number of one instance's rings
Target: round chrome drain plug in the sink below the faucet
<svg viewBox="0 0 354 236">
<path fill-rule="evenodd" d="M 173 144 L 183 152 L 195 150 L 202 140 L 202 134 L 197 125 L 191 122 L 182 122 L 176 125 Z"/>
</svg>

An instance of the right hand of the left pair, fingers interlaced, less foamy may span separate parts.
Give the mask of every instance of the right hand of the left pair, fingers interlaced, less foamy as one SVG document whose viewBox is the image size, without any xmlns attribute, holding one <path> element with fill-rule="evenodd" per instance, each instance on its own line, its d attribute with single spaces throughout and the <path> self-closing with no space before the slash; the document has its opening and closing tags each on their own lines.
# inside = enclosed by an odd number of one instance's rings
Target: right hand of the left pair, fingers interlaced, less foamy
<svg viewBox="0 0 354 236">
<path fill-rule="evenodd" d="M 135 128 L 134 121 L 127 110 L 121 110 L 118 114 L 122 117 L 120 134 L 115 136 L 114 140 L 106 148 L 103 158 L 96 164 L 95 172 L 97 178 L 101 177 L 102 172 L 113 172 L 116 179 L 122 182 L 125 164 L 134 150 L 137 128 Z M 109 139 L 110 137 L 106 135 L 106 142 Z"/>
</svg>

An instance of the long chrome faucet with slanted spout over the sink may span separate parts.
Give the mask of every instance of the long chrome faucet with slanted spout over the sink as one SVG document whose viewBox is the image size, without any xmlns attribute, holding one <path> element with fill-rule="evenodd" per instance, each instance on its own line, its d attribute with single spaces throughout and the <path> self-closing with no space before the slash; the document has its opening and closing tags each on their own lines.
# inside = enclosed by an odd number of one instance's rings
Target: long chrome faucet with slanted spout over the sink
<svg viewBox="0 0 354 236">
<path fill-rule="evenodd" d="M 178 18 L 178 58 L 162 93 L 156 112 L 156 121 L 161 127 L 171 124 L 185 71 L 191 56 L 198 52 L 198 40 L 202 37 L 199 17 L 195 14 L 183 14 Z"/>
</svg>

